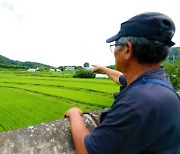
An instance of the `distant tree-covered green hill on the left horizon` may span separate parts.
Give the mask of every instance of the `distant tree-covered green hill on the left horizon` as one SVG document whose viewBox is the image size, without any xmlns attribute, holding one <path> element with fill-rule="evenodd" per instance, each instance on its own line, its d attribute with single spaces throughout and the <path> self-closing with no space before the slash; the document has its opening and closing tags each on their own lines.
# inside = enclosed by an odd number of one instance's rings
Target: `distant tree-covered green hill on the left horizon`
<svg viewBox="0 0 180 154">
<path fill-rule="evenodd" d="M 52 66 L 37 62 L 29 62 L 29 61 L 21 62 L 17 60 L 15 61 L 0 55 L 0 68 L 27 69 L 27 68 L 37 68 L 37 67 L 52 67 Z"/>
</svg>

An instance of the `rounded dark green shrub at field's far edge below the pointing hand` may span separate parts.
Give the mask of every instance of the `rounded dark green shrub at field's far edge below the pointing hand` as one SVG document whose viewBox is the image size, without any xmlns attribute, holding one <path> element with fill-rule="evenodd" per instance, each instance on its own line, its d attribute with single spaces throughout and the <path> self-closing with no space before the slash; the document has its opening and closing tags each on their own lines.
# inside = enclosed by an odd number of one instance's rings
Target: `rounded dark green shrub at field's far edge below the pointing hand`
<svg viewBox="0 0 180 154">
<path fill-rule="evenodd" d="M 78 69 L 78 70 L 76 70 L 73 77 L 74 78 L 95 78 L 95 74 L 89 70 Z"/>
</svg>

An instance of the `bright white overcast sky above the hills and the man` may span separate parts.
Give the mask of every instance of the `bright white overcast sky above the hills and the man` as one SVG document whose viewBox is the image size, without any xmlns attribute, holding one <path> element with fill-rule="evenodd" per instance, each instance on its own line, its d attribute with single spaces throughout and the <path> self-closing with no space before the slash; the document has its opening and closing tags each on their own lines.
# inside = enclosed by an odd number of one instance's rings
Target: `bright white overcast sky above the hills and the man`
<svg viewBox="0 0 180 154">
<path fill-rule="evenodd" d="M 0 55 L 51 66 L 114 64 L 105 40 L 142 12 L 173 19 L 180 46 L 180 0 L 0 0 Z"/>
</svg>

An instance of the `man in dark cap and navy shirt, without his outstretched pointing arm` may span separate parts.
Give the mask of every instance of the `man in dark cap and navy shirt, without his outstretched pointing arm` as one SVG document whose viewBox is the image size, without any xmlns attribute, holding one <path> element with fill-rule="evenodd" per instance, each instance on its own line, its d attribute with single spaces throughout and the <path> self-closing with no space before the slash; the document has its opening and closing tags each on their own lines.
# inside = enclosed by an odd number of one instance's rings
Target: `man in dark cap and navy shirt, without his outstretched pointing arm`
<svg viewBox="0 0 180 154">
<path fill-rule="evenodd" d="M 180 101 L 161 67 L 174 32 L 169 17 L 148 12 L 122 23 L 106 41 L 115 41 L 111 47 L 124 86 L 91 133 L 80 109 L 65 113 L 78 154 L 180 154 Z"/>
</svg>

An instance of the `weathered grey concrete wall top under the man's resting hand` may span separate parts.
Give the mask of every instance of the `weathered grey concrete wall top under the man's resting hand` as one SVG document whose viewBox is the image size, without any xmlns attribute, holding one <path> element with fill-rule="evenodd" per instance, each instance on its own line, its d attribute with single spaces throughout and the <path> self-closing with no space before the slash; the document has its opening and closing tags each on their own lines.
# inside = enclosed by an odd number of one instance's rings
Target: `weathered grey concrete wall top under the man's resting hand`
<svg viewBox="0 0 180 154">
<path fill-rule="evenodd" d="M 84 114 L 87 128 L 92 131 L 99 124 L 102 111 Z M 68 118 L 37 126 L 0 133 L 1 154 L 73 154 Z"/>
</svg>

